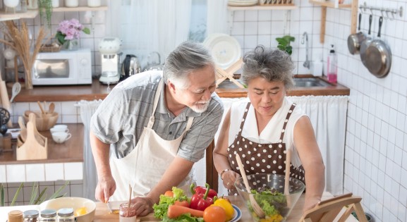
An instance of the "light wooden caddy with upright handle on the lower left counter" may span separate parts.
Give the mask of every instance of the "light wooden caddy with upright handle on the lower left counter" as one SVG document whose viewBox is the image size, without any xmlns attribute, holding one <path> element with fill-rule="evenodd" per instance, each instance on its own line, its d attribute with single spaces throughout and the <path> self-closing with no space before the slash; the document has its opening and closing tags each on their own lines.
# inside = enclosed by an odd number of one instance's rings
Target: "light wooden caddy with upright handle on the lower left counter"
<svg viewBox="0 0 407 222">
<path fill-rule="evenodd" d="M 17 160 L 47 159 L 48 138 L 44 137 L 35 127 L 35 114 L 30 113 L 30 121 L 26 125 L 27 138 L 17 147 Z M 19 135 L 20 136 L 20 135 Z"/>
</svg>

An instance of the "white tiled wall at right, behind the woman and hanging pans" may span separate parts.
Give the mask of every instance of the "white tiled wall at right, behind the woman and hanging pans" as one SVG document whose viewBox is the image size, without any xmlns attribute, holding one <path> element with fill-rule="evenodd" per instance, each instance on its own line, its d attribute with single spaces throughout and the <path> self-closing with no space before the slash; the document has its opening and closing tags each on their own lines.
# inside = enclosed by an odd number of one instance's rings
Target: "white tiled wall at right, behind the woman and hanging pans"
<svg viewBox="0 0 407 222">
<path fill-rule="evenodd" d="M 365 1 L 359 1 L 363 4 Z M 368 6 L 406 10 L 404 0 L 366 1 Z M 407 221 L 407 17 L 385 19 L 382 39 L 393 53 L 391 72 L 386 78 L 371 75 L 358 55 L 348 52 L 350 9 L 328 8 L 325 43 L 320 44 L 321 8 L 308 1 L 296 0 L 300 6 L 291 11 L 289 29 L 284 32 L 285 11 L 235 11 L 231 35 L 243 51 L 257 44 L 276 47 L 276 37 L 290 34 L 296 73 L 309 73 L 303 68 L 305 45 L 303 32 L 310 39 L 310 58 L 323 59 L 334 44 L 339 54 L 338 81 L 351 88 L 346 130 L 344 192 L 363 197 L 363 208 L 376 221 Z M 366 12 L 367 13 L 367 12 Z M 380 12 L 376 11 L 372 33 L 377 35 Z M 367 33 L 368 15 L 363 14 L 362 30 Z"/>
</svg>

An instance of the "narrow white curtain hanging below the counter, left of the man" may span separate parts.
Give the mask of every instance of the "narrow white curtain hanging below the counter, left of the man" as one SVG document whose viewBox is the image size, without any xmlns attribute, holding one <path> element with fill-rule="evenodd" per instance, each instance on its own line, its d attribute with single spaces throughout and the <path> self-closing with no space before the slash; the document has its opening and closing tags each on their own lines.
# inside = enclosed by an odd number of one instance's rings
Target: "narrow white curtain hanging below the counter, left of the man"
<svg viewBox="0 0 407 222">
<path fill-rule="evenodd" d="M 95 189 L 97 185 L 97 171 L 95 160 L 90 149 L 89 130 L 90 118 L 95 113 L 102 100 L 78 101 L 75 106 L 80 108 L 80 119 L 84 125 L 83 130 L 83 197 L 95 200 Z"/>
</svg>

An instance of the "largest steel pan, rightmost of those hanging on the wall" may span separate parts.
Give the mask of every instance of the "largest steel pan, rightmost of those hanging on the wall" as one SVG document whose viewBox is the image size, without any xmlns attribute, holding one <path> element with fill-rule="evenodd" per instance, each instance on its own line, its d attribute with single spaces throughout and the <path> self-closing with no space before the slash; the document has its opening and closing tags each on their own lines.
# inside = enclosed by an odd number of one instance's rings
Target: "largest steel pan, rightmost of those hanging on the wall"
<svg viewBox="0 0 407 222">
<path fill-rule="evenodd" d="M 382 29 L 383 17 L 379 18 L 379 32 L 377 37 L 380 37 Z M 390 72 L 391 68 L 391 51 L 390 47 L 382 39 L 373 40 L 366 49 L 366 67 L 370 73 L 377 78 L 384 78 Z"/>
</svg>

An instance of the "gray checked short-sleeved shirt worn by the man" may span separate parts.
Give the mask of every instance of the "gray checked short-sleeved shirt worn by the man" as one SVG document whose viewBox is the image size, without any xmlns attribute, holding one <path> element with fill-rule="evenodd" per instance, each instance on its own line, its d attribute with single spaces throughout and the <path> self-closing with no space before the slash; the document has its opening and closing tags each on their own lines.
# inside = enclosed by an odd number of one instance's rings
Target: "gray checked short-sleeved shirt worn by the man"
<svg viewBox="0 0 407 222">
<path fill-rule="evenodd" d="M 147 71 L 120 82 L 92 116 L 90 128 L 104 143 L 111 144 L 111 152 L 118 158 L 129 154 L 137 144 L 142 130 L 152 116 L 152 103 L 162 71 Z M 178 156 L 188 161 L 199 161 L 212 142 L 221 122 L 223 104 L 212 94 L 207 111 L 195 113 L 189 107 L 174 116 L 165 105 L 164 88 L 154 113 L 152 127 L 164 140 L 175 140 L 186 129 L 188 117 L 194 117 L 190 130 L 181 142 Z M 148 147 L 145 147 L 148 149 Z"/>
</svg>

